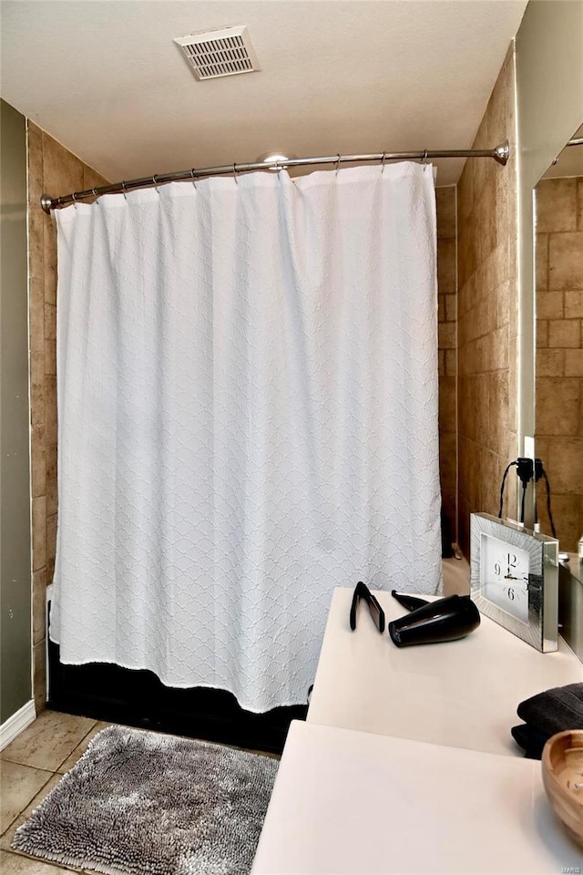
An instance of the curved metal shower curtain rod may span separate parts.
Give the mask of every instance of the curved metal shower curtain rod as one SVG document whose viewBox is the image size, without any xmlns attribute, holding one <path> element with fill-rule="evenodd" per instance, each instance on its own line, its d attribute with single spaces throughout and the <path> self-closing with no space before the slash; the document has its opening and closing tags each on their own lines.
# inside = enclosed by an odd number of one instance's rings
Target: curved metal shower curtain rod
<svg viewBox="0 0 583 875">
<path fill-rule="evenodd" d="M 161 173 L 159 176 L 146 176 L 139 180 L 114 182 L 111 185 L 101 185 L 97 189 L 74 191 L 72 194 L 51 198 L 44 194 L 40 203 L 45 212 L 64 207 L 66 203 L 75 203 L 87 198 L 98 197 L 101 194 L 126 194 L 133 189 L 158 188 L 165 182 L 194 181 L 206 176 L 221 176 L 227 173 L 245 173 L 249 170 L 282 170 L 284 167 L 302 167 L 311 164 L 343 163 L 361 164 L 367 161 L 422 160 L 429 158 L 493 158 L 498 164 L 505 165 L 510 155 L 508 141 L 505 140 L 495 149 L 424 149 L 419 152 L 375 152 L 369 155 L 322 155 L 316 158 L 288 158 L 281 161 L 251 161 L 244 164 L 225 164 L 222 167 L 203 167 L 197 170 L 178 170 L 174 173 Z"/>
</svg>

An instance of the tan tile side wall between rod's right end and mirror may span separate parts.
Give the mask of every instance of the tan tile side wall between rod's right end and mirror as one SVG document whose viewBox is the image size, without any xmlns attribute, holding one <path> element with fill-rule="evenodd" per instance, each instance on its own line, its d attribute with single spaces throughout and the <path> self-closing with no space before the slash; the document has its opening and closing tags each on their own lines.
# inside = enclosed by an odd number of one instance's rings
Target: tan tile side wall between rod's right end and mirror
<svg viewBox="0 0 583 875">
<path fill-rule="evenodd" d="M 517 165 L 514 51 L 508 52 L 474 149 L 508 139 L 506 167 L 467 160 L 457 189 L 459 543 L 469 514 L 497 514 L 500 482 L 517 458 Z M 516 477 L 505 513 L 515 516 Z"/>
</svg>

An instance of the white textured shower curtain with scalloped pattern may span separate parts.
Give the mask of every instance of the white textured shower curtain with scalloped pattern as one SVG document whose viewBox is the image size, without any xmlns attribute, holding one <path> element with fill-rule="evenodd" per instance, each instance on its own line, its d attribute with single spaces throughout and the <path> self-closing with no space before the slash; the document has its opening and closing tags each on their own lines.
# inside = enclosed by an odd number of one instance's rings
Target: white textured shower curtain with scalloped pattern
<svg viewBox="0 0 583 875">
<path fill-rule="evenodd" d="M 440 586 L 431 170 L 56 220 L 61 661 L 304 703 L 333 587 Z"/>
</svg>

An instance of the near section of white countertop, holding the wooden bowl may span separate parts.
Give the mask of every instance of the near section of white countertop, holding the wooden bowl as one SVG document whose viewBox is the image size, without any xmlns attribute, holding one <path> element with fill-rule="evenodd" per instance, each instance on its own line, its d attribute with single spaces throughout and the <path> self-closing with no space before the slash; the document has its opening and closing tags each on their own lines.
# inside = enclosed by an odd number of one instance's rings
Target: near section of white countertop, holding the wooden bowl
<svg viewBox="0 0 583 875">
<path fill-rule="evenodd" d="M 294 721 L 252 875 L 583 871 L 540 763 Z"/>
</svg>

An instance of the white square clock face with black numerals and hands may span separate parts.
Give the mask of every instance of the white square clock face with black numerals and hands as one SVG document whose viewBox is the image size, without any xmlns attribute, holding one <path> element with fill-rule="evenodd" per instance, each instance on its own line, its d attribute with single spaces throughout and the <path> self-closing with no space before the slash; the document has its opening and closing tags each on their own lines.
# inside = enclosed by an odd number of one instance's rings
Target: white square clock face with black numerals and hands
<svg viewBox="0 0 583 875">
<path fill-rule="evenodd" d="M 484 597 L 517 620 L 527 623 L 528 552 L 484 532 L 480 552 L 480 582 Z"/>
</svg>

